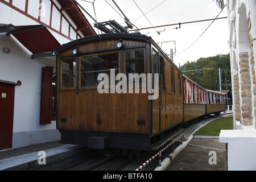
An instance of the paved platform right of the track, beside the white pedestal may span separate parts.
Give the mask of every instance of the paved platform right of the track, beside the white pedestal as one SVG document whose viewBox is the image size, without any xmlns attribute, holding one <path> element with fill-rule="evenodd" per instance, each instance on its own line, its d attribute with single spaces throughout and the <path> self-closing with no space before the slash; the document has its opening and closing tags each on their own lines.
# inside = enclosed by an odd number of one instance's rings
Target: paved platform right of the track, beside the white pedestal
<svg viewBox="0 0 256 182">
<path fill-rule="evenodd" d="M 227 171 L 226 144 L 218 138 L 193 136 L 164 171 Z"/>
</svg>

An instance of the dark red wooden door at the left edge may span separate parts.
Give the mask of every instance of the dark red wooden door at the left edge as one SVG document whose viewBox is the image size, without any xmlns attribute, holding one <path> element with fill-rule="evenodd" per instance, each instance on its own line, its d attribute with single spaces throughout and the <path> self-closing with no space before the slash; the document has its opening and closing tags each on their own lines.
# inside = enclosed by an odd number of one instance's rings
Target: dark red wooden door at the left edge
<svg viewBox="0 0 256 182">
<path fill-rule="evenodd" d="M 0 82 L 0 150 L 13 146 L 15 85 Z"/>
</svg>

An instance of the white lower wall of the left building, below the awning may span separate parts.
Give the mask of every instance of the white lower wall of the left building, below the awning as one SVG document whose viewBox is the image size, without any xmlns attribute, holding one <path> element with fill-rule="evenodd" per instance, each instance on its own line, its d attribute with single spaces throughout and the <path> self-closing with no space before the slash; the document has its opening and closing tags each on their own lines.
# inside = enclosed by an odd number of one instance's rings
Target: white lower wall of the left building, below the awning
<svg viewBox="0 0 256 182">
<path fill-rule="evenodd" d="M 3 47 L 11 49 L 11 53 L 3 53 Z M 52 130 L 53 138 L 56 134 L 56 122 L 50 125 L 40 125 L 40 92 L 42 67 L 51 63 L 55 66 L 55 60 L 48 64 L 30 59 L 31 53 L 22 46 L 12 35 L 0 34 L 0 80 L 16 82 L 22 81 L 22 85 L 15 86 L 14 121 L 13 121 L 13 148 L 36 144 L 36 138 L 43 138 L 42 130 Z M 28 138 L 27 134 L 32 134 Z M 51 134 L 50 134 L 51 135 Z M 18 137 L 16 137 L 18 136 Z M 17 140 L 18 139 L 18 140 Z M 44 142 L 49 142 L 45 140 Z"/>
</svg>

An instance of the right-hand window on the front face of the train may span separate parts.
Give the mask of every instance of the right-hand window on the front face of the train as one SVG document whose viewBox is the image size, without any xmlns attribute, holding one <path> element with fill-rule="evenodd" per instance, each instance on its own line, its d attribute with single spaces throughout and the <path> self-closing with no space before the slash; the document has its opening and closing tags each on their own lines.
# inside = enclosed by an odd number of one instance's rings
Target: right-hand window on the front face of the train
<svg viewBox="0 0 256 182">
<path fill-rule="evenodd" d="M 129 73 L 144 73 L 144 49 L 126 51 L 126 75 Z"/>
</svg>

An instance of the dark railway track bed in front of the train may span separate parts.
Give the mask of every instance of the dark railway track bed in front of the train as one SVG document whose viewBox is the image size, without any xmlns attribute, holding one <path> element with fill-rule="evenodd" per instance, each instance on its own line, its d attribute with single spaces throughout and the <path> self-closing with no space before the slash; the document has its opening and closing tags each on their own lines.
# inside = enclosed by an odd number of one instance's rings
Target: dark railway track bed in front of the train
<svg viewBox="0 0 256 182">
<path fill-rule="evenodd" d="M 175 148 L 181 142 L 175 142 Z M 174 148 L 170 147 L 162 153 L 162 156 L 170 154 Z M 56 164 L 37 168 L 37 171 L 135 171 L 141 164 L 156 151 L 143 151 L 141 155 L 133 160 L 129 160 L 127 156 L 117 156 L 108 154 L 93 154 L 92 150 L 86 151 L 84 154 L 73 156 L 69 159 L 61 160 Z M 150 164 L 141 169 L 142 171 L 154 171 L 159 165 L 159 160 L 152 160 Z"/>
</svg>

